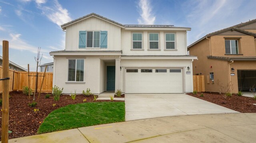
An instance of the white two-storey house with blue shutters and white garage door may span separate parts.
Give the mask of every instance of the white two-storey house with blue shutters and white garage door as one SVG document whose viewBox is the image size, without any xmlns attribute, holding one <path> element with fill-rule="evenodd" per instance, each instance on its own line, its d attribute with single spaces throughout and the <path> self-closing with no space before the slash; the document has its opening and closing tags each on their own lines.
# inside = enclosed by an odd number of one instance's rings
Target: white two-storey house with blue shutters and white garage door
<svg viewBox="0 0 256 143">
<path fill-rule="evenodd" d="M 184 93 L 193 90 L 188 27 L 122 25 L 88 14 L 61 25 L 65 50 L 52 51 L 53 85 L 64 93 Z"/>
</svg>

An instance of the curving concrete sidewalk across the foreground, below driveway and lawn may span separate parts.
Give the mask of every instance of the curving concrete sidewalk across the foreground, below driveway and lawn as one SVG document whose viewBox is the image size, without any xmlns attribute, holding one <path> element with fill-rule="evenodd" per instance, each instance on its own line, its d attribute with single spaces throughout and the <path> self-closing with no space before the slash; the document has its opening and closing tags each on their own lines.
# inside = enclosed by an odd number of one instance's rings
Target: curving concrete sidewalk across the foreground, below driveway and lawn
<svg viewBox="0 0 256 143">
<path fill-rule="evenodd" d="M 10 139 L 10 143 L 255 143 L 256 114 L 140 119 Z"/>
</svg>

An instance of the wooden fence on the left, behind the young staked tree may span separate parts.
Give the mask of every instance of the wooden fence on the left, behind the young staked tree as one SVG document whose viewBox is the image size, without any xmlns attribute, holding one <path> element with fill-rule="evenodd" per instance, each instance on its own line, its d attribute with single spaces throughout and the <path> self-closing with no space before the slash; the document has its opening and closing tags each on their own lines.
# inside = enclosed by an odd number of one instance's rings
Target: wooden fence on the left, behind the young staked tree
<svg viewBox="0 0 256 143">
<path fill-rule="evenodd" d="M 0 66 L 0 78 L 2 78 L 2 67 Z M 35 89 L 36 84 L 36 72 L 29 72 L 30 75 L 30 88 L 32 91 Z M 46 72 L 44 77 L 44 83 L 42 86 L 42 92 L 52 92 L 52 72 Z M 9 69 L 9 90 L 10 91 L 22 91 L 23 86 L 28 86 L 28 72 L 18 72 Z M 44 72 L 38 72 L 38 85 L 37 89 L 40 90 Z M 0 93 L 2 93 L 2 81 L 0 81 Z"/>
</svg>

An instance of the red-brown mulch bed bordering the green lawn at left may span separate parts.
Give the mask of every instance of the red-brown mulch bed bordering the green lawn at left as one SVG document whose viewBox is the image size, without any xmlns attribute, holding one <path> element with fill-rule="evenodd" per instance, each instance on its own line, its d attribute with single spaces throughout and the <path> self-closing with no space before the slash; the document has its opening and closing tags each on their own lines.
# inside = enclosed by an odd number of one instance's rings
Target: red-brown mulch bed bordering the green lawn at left
<svg viewBox="0 0 256 143">
<path fill-rule="evenodd" d="M 36 94 L 36 99 L 37 95 L 38 94 Z M 46 116 L 48 116 L 48 114 L 50 114 L 53 110 L 69 104 L 83 103 L 85 98 L 86 102 L 95 102 L 93 101 L 93 95 L 83 96 L 80 94 L 76 96 L 75 100 L 72 100 L 70 95 L 61 95 L 59 101 L 54 101 L 52 95 L 50 98 L 45 98 L 45 95 L 46 93 L 41 93 L 36 107 L 29 107 L 28 103 L 32 102 L 33 96 L 31 96 L 29 99 L 28 96 L 22 94 L 22 92 L 10 92 L 9 130 L 12 131 L 12 133 L 9 133 L 9 139 L 36 135 L 37 130 L 44 118 L 46 118 Z M 110 102 L 110 100 L 97 100 L 97 102 Z M 114 100 L 113 102 L 124 101 Z M 52 104 L 56 104 L 56 106 L 52 106 Z M 39 109 L 39 111 L 35 113 L 34 109 Z M 2 135 L 2 112 L 0 112 L 0 118 L 0 134 Z"/>
</svg>

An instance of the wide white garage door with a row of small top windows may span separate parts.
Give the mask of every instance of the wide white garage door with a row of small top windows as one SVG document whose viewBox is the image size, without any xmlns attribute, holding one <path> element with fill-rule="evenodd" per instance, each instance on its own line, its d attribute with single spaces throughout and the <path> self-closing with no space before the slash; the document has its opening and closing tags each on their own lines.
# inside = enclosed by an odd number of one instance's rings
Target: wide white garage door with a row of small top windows
<svg viewBox="0 0 256 143">
<path fill-rule="evenodd" d="M 182 93 L 182 69 L 126 69 L 126 93 Z"/>
</svg>

